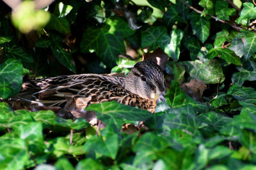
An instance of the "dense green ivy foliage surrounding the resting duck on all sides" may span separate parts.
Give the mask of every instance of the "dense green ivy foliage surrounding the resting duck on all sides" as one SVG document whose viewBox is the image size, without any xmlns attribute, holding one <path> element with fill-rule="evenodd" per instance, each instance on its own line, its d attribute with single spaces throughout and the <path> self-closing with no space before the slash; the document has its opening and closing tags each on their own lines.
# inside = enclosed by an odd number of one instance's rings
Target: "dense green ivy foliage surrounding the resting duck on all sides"
<svg viewBox="0 0 256 170">
<path fill-rule="evenodd" d="M 0 169 L 255 169 L 253 1 L 56 0 L 43 10 L 6 2 L 2 99 L 30 78 L 127 74 L 142 55 L 168 59 L 168 91 L 154 114 L 115 102 L 88 106 L 107 125 L 97 136 L 83 118 L 1 102 Z"/>
</svg>

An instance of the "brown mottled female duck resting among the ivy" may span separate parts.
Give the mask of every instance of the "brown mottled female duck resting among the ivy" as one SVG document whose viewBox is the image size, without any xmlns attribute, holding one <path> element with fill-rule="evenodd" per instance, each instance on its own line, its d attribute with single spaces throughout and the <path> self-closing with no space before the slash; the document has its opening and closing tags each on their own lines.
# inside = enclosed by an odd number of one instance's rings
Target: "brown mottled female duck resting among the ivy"
<svg viewBox="0 0 256 170">
<path fill-rule="evenodd" d="M 84 111 L 89 104 L 117 101 L 153 113 L 156 103 L 164 101 L 164 93 L 161 67 L 145 60 L 135 64 L 125 78 L 77 74 L 31 80 L 23 83 L 15 98 L 28 101 L 37 110 L 46 108 L 59 113 L 69 112 L 74 117 L 85 117 L 90 121 L 91 118 L 86 116 L 88 111 Z"/>
</svg>

